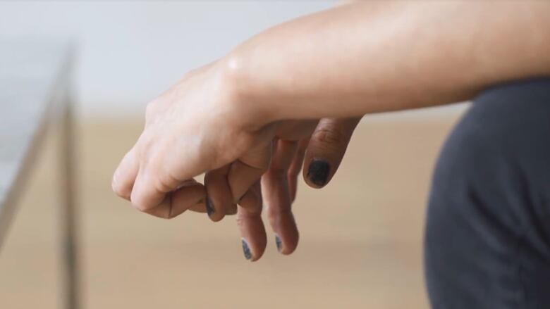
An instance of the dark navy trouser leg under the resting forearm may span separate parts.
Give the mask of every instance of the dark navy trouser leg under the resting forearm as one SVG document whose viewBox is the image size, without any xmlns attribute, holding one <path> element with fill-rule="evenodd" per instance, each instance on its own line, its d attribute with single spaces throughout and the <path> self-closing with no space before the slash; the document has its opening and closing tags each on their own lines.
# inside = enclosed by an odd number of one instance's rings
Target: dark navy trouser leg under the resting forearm
<svg viewBox="0 0 550 309">
<path fill-rule="evenodd" d="M 550 78 L 475 99 L 441 151 L 425 233 L 432 308 L 550 308 Z"/>
</svg>

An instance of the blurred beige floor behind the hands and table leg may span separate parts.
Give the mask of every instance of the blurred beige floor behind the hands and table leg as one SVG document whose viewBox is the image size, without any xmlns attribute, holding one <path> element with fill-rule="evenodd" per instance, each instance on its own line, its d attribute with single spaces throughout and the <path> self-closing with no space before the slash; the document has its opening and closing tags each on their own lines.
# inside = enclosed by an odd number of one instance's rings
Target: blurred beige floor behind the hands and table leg
<svg viewBox="0 0 550 309">
<path fill-rule="evenodd" d="M 401 119 L 401 118 L 400 118 Z M 439 146 L 456 118 L 367 119 L 326 189 L 300 184 L 300 247 L 258 263 L 234 218 L 148 217 L 111 194 L 140 122 L 80 125 L 87 308 L 427 308 L 422 222 Z M 0 255 L 0 308 L 60 308 L 56 162 L 51 141 Z M 271 240 L 271 239 L 270 239 Z"/>
</svg>

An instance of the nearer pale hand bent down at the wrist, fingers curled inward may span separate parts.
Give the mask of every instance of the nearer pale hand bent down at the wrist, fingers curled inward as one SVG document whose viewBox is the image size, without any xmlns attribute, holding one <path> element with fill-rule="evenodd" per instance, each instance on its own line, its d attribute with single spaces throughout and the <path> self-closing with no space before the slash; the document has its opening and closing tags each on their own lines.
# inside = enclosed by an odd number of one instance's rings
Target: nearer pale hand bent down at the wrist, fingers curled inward
<svg viewBox="0 0 550 309">
<path fill-rule="evenodd" d="M 259 179 L 277 124 L 239 105 L 230 74 L 220 61 L 204 66 L 149 103 L 145 129 L 114 174 L 119 196 L 146 213 L 173 217 L 204 196 L 204 187 L 190 180 L 202 172 L 216 179 L 212 173 L 228 163 L 242 163 L 236 170 L 247 184 L 231 189 L 235 201 Z"/>
</svg>

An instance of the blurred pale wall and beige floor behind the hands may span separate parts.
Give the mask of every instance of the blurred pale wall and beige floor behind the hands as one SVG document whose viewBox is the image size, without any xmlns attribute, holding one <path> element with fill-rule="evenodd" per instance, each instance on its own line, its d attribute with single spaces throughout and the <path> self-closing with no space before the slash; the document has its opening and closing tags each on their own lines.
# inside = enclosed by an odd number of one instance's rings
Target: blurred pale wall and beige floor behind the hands
<svg viewBox="0 0 550 309">
<path fill-rule="evenodd" d="M 336 1 L 8 1 L 1 39 L 78 43 L 80 255 L 86 308 L 428 308 L 422 275 L 432 167 L 467 103 L 367 115 L 328 187 L 300 183 L 300 246 L 243 258 L 234 217 L 149 217 L 111 193 L 145 105 L 271 25 Z M 343 51 L 345 52 L 345 51 Z M 1 68 L 0 68 L 1 70 Z M 53 141 L 0 252 L 1 308 L 59 308 Z"/>
</svg>

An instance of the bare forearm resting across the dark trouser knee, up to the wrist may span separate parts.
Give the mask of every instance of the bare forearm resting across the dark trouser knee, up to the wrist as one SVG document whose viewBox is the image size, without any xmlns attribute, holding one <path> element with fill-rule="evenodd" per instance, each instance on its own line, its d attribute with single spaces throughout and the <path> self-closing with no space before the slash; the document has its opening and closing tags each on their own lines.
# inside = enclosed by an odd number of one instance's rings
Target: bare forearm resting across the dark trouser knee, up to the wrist
<svg viewBox="0 0 550 309">
<path fill-rule="evenodd" d="M 346 4 L 258 34 L 227 63 L 271 120 L 432 106 L 550 75 L 549 15 L 546 1 Z"/>
</svg>

